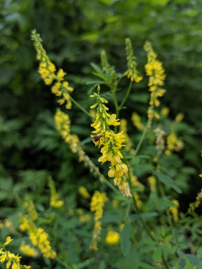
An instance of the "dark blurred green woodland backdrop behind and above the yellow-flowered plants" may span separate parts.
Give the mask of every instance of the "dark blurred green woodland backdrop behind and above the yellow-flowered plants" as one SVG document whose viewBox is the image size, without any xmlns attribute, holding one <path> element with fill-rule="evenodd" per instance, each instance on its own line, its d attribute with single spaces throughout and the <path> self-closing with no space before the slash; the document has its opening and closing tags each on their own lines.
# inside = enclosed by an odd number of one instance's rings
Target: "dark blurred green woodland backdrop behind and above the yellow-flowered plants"
<svg viewBox="0 0 202 269">
<path fill-rule="evenodd" d="M 37 73 L 38 63 L 30 40 L 33 28 L 40 33 L 51 61 L 67 72 L 67 80 L 75 88 L 73 97 L 86 110 L 92 104 L 89 100 L 92 88 L 86 84 L 94 79 L 90 63 L 99 64 L 100 51 L 105 49 L 109 62 L 117 72 L 123 72 L 125 38 L 129 37 L 138 67 L 144 74 L 146 56 L 142 47 L 145 40 L 151 41 L 167 74 L 167 93 L 161 102 L 170 108 L 171 119 L 184 113 L 184 149 L 178 154 L 179 167 L 191 168 L 194 173 L 180 198 L 183 210 L 201 188 L 198 174 L 202 167 L 202 2 L 0 1 L 1 218 L 12 212 L 16 197 L 22 193 L 34 192 L 34 199 L 43 199 L 40 194 L 44 192 L 48 174 L 66 194 L 73 194 L 78 184 L 85 184 L 89 192 L 99 184 L 88 169 L 78 163 L 77 156 L 68 150 L 55 129 L 53 116 L 57 99 Z M 130 119 L 133 111 L 146 117 L 149 98 L 146 84 L 145 78 L 136 86 L 121 118 Z M 107 98 L 110 100 L 111 96 Z M 81 140 L 89 137 L 90 119 L 75 106 L 68 113 L 72 132 Z M 129 126 L 131 137 L 135 132 L 134 127 Z M 87 144 L 84 149 L 90 156 L 96 152 Z M 97 162 L 96 158 L 93 160 Z"/>
</svg>

